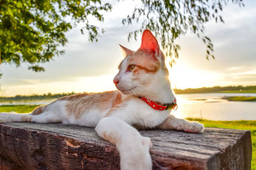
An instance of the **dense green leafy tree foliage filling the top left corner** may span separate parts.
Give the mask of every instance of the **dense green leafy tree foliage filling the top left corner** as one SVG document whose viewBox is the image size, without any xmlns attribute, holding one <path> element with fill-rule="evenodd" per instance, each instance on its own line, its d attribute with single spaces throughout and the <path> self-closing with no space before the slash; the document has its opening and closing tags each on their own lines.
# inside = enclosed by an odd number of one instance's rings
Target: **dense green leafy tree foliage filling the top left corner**
<svg viewBox="0 0 256 170">
<path fill-rule="evenodd" d="M 65 32 L 81 23 L 89 40 L 97 41 L 99 27 L 88 18 L 104 21 L 102 11 L 111 10 L 100 0 L 0 0 L 0 54 L 2 62 L 29 64 L 28 69 L 44 71 L 39 63 L 63 54 Z"/>
</svg>

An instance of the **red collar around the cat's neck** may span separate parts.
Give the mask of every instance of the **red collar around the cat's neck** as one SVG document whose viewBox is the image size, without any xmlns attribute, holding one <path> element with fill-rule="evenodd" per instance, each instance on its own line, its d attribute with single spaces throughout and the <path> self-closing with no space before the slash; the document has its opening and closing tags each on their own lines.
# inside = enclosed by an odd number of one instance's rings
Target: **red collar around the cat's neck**
<svg viewBox="0 0 256 170">
<path fill-rule="evenodd" d="M 163 105 L 156 104 L 156 103 L 154 103 L 154 101 L 151 101 L 150 99 L 147 99 L 145 97 L 139 97 L 139 98 L 142 99 L 143 101 L 145 101 L 145 103 L 147 103 L 154 110 L 168 110 L 168 109 L 177 110 L 177 108 L 178 108 L 176 98 L 174 99 L 173 103 L 165 103 Z"/>
</svg>

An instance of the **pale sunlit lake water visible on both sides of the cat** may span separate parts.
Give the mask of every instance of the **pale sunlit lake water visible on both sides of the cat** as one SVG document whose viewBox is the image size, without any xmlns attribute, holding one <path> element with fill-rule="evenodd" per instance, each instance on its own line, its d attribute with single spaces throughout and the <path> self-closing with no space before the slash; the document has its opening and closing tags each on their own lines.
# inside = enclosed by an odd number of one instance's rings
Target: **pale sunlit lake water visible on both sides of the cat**
<svg viewBox="0 0 256 170">
<path fill-rule="evenodd" d="M 178 118 L 204 118 L 208 120 L 256 120 L 256 102 L 227 101 L 224 96 L 255 96 L 256 94 L 177 94 L 178 109 L 172 114 Z M 3 104 L 47 104 L 51 100 L 20 101 Z"/>
</svg>

